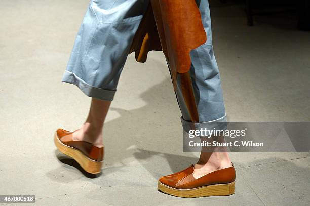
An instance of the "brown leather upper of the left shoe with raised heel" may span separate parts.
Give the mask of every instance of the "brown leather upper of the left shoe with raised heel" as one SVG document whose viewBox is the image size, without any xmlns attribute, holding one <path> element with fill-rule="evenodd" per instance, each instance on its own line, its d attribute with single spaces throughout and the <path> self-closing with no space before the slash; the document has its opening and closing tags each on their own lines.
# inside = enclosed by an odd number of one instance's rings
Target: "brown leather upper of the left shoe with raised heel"
<svg viewBox="0 0 310 206">
<path fill-rule="evenodd" d="M 90 159 L 93 159 L 95 161 L 103 160 L 103 154 L 104 154 L 103 147 L 96 147 L 95 145 L 92 145 L 89 142 L 72 140 L 72 133 L 73 132 L 69 132 L 64 129 L 58 129 L 57 137 L 63 144 L 80 150 Z"/>
</svg>

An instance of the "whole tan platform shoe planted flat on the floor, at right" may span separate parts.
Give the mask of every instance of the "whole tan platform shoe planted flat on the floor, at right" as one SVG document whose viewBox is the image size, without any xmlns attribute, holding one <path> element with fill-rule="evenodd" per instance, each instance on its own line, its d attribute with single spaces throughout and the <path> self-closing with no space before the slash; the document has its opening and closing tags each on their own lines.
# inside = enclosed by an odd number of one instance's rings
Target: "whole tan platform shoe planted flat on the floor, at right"
<svg viewBox="0 0 310 206">
<path fill-rule="evenodd" d="M 231 163 L 232 165 L 232 163 Z M 192 175 L 194 166 L 159 179 L 158 189 L 177 197 L 224 196 L 235 193 L 236 171 L 229 168 L 213 171 L 201 178 Z"/>
</svg>

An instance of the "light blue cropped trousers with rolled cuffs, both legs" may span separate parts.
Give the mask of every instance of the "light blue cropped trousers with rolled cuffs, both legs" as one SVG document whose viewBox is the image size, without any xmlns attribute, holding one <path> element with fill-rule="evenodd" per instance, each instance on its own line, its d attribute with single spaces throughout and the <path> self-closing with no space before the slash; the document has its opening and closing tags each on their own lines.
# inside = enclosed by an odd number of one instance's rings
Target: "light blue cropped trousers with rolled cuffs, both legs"
<svg viewBox="0 0 310 206">
<path fill-rule="evenodd" d="M 199 122 L 190 121 L 177 79 L 176 97 L 186 132 L 193 128 L 225 129 L 223 122 L 226 122 L 220 75 L 213 53 L 209 3 L 208 0 L 196 0 L 196 3 L 207 41 L 190 52 L 190 75 Z M 91 0 L 62 81 L 78 86 L 89 97 L 112 101 L 148 4 L 149 0 Z"/>
</svg>

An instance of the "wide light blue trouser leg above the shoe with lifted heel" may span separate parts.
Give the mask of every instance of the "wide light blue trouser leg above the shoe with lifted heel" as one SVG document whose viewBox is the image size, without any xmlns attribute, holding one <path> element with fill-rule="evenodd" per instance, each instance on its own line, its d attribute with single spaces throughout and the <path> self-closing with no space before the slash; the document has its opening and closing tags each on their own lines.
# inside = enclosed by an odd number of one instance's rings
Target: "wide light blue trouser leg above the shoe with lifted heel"
<svg viewBox="0 0 310 206">
<path fill-rule="evenodd" d="M 112 101 L 147 0 L 91 0 L 62 81 Z"/>
</svg>

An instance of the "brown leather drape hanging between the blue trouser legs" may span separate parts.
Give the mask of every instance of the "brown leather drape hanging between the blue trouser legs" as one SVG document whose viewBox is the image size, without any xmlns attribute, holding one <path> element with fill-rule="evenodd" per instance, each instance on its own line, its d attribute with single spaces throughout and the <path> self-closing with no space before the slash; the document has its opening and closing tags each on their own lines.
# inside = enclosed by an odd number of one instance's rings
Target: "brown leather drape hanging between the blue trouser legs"
<svg viewBox="0 0 310 206">
<path fill-rule="evenodd" d="M 136 32 L 129 53 L 135 52 L 138 62 L 145 62 L 148 51 L 162 50 L 170 67 L 174 90 L 177 75 L 182 74 L 181 88 L 191 120 L 198 122 L 195 97 L 189 69 L 190 50 L 207 40 L 195 0 L 150 0 Z"/>
</svg>

